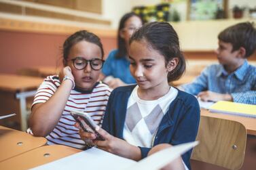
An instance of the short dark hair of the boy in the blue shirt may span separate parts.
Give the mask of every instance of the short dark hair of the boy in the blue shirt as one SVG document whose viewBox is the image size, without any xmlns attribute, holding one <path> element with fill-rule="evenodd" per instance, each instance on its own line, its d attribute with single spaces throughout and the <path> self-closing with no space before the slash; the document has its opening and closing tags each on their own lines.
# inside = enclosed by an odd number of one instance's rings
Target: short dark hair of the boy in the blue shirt
<svg viewBox="0 0 256 170">
<path fill-rule="evenodd" d="M 244 58 L 251 56 L 256 49 L 256 29 L 252 22 L 242 22 L 225 28 L 218 35 L 218 39 L 225 43 L 231 43 L 232 51 L 244 47 Z"/>
</svg>

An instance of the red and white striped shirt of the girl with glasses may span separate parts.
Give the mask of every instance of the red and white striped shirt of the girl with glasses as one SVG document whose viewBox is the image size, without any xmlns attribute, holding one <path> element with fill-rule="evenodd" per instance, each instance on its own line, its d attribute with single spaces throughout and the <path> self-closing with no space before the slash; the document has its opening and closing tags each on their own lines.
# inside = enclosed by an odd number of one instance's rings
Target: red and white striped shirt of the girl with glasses
<svg viewBox="0 0 256 170">
<path fill-rule="evenodd" d="M 60 80 L 58 76 L 47 77 L 39 86 L 33 105 L 46 102 L 59 86 Z M 62 144 L 74 148 L 84 148 L 84 141 L 80 139 L 78 129 L 74 127 L 75 120 L 71 116 L 70 111 L 83 110 L 88 112 L 92 119 L 98 125 L 101 125 L 110 93 L 111 89 L 103 83 L 98 83 L 91 93 L 73 89 L 69 95 L 65 110 L 62 112 L 60 121 L 46 137 L 48 144 Z"/>
</svg>

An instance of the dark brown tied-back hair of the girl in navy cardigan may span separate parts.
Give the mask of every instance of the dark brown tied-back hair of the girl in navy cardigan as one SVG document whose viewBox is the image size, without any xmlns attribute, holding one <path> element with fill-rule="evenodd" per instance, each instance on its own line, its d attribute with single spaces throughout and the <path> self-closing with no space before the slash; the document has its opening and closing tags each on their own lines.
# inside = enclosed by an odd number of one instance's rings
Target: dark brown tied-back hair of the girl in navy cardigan
<svg viewBox="0 0 256 170">
<path fill-rule="evenodd" d="M 175 81 L 183 75 L 186 67 L 185 58 L 179 47 L 179 37 L 168 22 L 149 22 L 143 25 L 132 35 L 129 43 L 141 40 L 145 40 L 164 56 L 166 66 L 173 58 L 179 59 L 176 68 L 168 73 L 168 82 Z"/>
</svg>

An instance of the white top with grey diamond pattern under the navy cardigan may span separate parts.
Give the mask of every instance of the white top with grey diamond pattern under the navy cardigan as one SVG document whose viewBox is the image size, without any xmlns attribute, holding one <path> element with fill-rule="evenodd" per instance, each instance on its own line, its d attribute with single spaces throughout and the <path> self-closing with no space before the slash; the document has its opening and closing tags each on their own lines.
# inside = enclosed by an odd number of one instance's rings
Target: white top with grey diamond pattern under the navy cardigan
<svg viewBox="0 0 256 170">
<path fill-rule="evenodd" d="M 170 87 L 168 93 L 158 100 L 141 100 L 136 86 L 128 99 L 124 140 L 134 146 L 151 148 L 158 126 L 175 100 L 178 90 Z"/>
</svg>

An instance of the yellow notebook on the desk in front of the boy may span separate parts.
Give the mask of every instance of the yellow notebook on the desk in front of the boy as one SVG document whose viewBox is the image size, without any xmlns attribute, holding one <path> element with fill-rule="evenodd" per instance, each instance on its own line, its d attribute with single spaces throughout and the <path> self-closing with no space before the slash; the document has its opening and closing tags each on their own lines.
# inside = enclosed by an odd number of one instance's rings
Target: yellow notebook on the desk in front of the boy
<svg viewBox="0 0 256 170">
<path fill-rule="evenodd" d="M 240 104 L 236 102 L 219 101 L 213 104 L 209 110 L 210 112 L 220 112 L 256 118 L 256 105 L 254 104 Z"/>
</svg>

